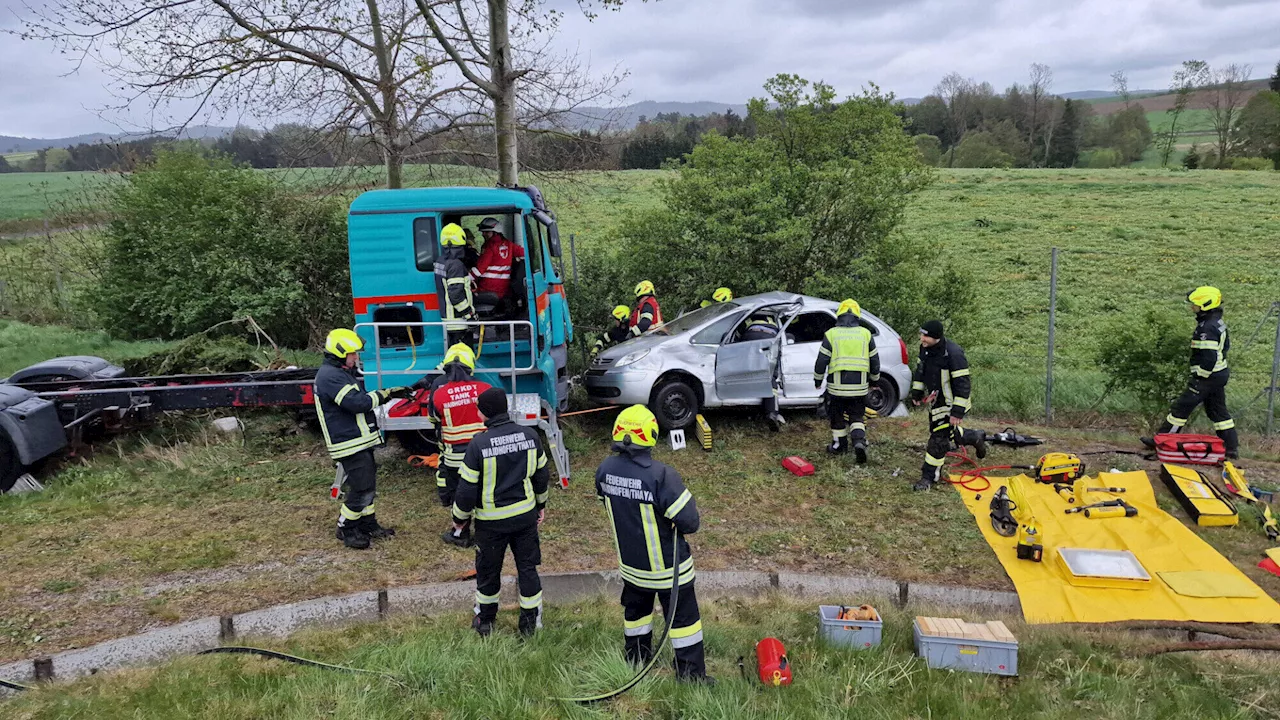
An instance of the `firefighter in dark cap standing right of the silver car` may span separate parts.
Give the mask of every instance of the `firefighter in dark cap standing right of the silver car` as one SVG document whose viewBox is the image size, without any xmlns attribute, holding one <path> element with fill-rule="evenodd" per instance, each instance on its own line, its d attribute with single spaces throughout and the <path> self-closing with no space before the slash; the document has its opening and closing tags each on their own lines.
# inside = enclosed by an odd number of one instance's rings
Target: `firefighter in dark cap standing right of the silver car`
<svg viewBox="0 0 1280 720">
<path fill-rule="evenodd" d="M 928 395 L 925 395 L 928 393 Z M 969 360 L 959 345 L 943 337 L 941 320 L 920 325 L 920 360 L 911 373 L 911 404 L 931 404 L 929 443 L 924 448 L 918 491 L 929 489 L 942 474 L 951 442 L 973 446 L 978 457 L 987 456 L 987 434 L 963 427 L 972 406 Z"/>
</svg>

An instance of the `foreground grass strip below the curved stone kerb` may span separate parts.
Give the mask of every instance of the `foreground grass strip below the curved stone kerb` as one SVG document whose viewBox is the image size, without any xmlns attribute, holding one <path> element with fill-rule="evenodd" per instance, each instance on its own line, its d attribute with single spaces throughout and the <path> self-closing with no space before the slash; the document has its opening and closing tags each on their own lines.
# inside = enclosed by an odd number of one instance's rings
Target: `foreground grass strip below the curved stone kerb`
<svg viewBox="0 0 1280 720">
<path fill-rule="evenodd" d="M 1220 661 L 1138 659 L 1133 651 L 1143 641 L 1009 621 L 1020 642 L 1014 680 L 929 670 L 915 659 L 910 614 L 932 614 L 929 609 L 901 612 L 881 603 L 886 620 L 881 647 L 847 651 L 817 635 L 813 605 L 776 596 L 700 605 L 709 670 L 719 680 L 714 688 L 678 684 L 659 665 L 639 687 L 609 703 L 576 706 L 554 700 L 603 692 L 632 674 L 620 651 L 621 609 L 613 598 L 602 597 L 548 609 L 545 628 L 529 642 L 515 638 L 513 611 L 504 610 L 498 634 L 486 641 L 475 637 L 466 616 L 454 614 L 308 632 L 273 646 L 389 671 L 403 685 L 261 659 L 192 657 L 32 691 L 6 702 L 4 710 L 13 720 L 1274 716 L 1266 707 L 1276 697 L 1271 687 L 1276 666 L 1265 660 L 1234 655 Z M 741 678 L 735 660 L 746 656 L 754 675 L 753 646 L 763 635 L 786 643 L 792 685 L 764 688 Z"/>
</svg>

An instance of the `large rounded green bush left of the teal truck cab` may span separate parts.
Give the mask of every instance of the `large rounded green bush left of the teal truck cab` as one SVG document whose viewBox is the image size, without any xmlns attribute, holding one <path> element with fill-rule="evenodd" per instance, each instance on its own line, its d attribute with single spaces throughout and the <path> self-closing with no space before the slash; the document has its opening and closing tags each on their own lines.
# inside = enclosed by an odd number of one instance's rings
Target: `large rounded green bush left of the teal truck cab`
<svg viewBox="0 0 1280 720">
<path fill-rule="evenodd" d="M 109 191 L 100 284 L 110 332 L 179 338 L 251 315 L 300 347 L 351 322 L 342 205 L 225 158 L 163 151 Z"/>
</svg>

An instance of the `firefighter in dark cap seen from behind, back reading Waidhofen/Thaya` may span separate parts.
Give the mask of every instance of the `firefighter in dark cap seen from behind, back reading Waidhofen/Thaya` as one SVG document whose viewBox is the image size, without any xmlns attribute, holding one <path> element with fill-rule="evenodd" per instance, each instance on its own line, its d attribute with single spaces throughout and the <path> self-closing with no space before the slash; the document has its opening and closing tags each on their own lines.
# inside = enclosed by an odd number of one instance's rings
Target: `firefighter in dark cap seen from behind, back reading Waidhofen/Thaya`
<svg viewBox="0 0 1280 720">
<path fill-rule="evenodd" d="M 520 634 L 543 626 L 543 561 L 538 527 L 547 516 L 547 454 L 538 433 L 507 415 L 507 393 L 490 387 L 476 401 L 488 429 L 477 434 L 462 459 L 453 496 L 453 529 L 475 520 L 476 615 L 471 626 L 488 637 L 498 619 L 502 561 L 511 548 L 520 584 Z"/>
</svg>

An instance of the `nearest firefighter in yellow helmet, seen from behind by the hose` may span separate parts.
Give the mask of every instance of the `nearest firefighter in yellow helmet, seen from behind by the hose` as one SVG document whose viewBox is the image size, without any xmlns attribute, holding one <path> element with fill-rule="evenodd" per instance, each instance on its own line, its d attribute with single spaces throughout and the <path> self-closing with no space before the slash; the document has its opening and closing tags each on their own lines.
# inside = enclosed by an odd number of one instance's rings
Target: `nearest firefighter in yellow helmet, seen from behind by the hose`
<svg viewBox="0 0 1280 720">
<path fill-rule="evenodd" d="M 698 503 L 675 469 L 649 452 L 658 442 L 658 420 L 643 405 L 618 414 L 613 424 L 613 455 L 595 471 L 595 495 L 613 525 L 618 570 L 622 573 L 623 653 L 644 665 L 653 657 L 653 600 L 662 602 L 676 651 L 676 676 L 714 683 L 707 676 L 703 621 L 694 589 L 694 556 L 680 539 L 672 557 L 676 530 L 698 532 Z M 680 594 L 671 607 L 673 573 L 680 573 Z"/>
</svg>

